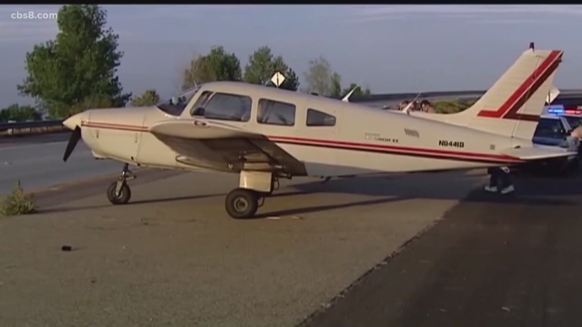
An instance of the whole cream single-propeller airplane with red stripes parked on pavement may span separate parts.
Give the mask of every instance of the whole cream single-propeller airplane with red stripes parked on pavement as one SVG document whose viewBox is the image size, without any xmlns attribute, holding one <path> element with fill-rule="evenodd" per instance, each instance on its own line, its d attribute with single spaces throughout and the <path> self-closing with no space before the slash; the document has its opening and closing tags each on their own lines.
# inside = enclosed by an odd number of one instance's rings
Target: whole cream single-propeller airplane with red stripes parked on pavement
<svg viewBox="0 0 582 327">
<path fill-rule="evenodd" d="M 237 173 L 239 187 L 226 196 L 226 211 L 251 218 L 281 178 L 486 168 L 568 156 L 573 152 L 531 141 L 562 55 L 528 49 L 471 108 L 427 113 L 446 122 L 238 81 L 205 83 L 155 106 L 71 116 L 63 122 L 73 130 L 63 160 L 82 138 L 95 158 L 125 163 L 107 190 L 112 204 L 130 200 L 129 165 Z"/>
</svg>

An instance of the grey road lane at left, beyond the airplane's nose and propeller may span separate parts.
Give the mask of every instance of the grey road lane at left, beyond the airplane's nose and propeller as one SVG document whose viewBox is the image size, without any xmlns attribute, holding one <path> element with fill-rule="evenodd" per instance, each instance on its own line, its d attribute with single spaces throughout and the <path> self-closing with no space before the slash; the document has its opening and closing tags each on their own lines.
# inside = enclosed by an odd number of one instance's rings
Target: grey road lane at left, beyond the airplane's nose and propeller
<svg viewBox="0 0 582 327">
<path fill-rule="evenodd" d="M 0 138 L 0 195 L 16 180 L 24 190 L 36 190 L 77 179 L 121 172 L 122 164 L 95 160 L 82 140 L 63 162 L 70 133 Z"/>
</svg>

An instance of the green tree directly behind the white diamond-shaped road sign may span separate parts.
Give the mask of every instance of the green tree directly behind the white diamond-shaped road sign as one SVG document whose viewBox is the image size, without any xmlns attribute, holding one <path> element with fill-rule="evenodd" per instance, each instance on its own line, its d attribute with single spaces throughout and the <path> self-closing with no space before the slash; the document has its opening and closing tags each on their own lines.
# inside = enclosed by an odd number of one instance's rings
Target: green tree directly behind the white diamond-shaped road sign
<svg viewBox="0 0 582 327">
<path fill-rule="evenodd" d="M 271 77 L 275 72 L 280 72 L 285 76 L 285 81 L 279 86 L 285 90 L 297 91 L 299 79 L 297 75 L 283 60 L 282 56 L 273 57 L 271 48 L 264 45 L 249 56 L 249 63 L 244 66 L 243 80 L 247 83 L 275 86 L 271 82 Z"/>
</svg>

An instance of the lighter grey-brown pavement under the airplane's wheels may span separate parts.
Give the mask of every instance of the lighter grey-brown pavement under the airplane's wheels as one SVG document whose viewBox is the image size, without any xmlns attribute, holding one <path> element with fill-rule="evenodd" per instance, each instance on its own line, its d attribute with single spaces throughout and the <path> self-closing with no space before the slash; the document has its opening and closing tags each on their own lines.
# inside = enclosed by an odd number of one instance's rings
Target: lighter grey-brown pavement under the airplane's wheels
<svg viewBox="0 0 582 327">
<path fill-rule="evenodd" d="M 294 326 L 485 178 L 283 180 L 239 220 L 224 209 L 237 175 L 135 173 L 126 205 L 99 177 L 0 217 L 0 326 Z"/>
</svg>

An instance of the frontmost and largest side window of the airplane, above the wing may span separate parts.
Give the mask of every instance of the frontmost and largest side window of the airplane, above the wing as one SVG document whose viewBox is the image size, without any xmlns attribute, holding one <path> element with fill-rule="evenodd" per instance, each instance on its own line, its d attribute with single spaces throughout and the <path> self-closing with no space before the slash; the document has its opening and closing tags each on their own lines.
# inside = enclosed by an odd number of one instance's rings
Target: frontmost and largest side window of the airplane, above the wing
<svg viewBox="0 0 582 327">
<path fill-rule="evenodd" d="M 215 93 L 204 105 L 204 118 L 248 122 L 251 98 L 246 95 Z"/>
</svg>

